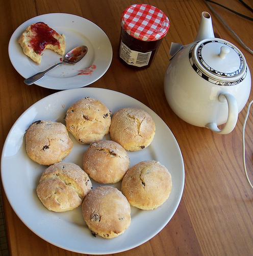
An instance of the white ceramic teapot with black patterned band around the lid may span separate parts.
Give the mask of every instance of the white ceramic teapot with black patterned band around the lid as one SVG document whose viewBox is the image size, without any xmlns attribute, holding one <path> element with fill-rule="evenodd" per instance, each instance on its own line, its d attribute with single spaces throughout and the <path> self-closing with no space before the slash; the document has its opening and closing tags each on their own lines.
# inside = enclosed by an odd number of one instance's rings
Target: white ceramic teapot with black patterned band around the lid
<svg viewBox="0 0 253 256">
<path fill-rule="evenodd" d="M 212 18 L 203 12 L 192 44 L 171 44 L 164 90 L 173 112 L 213 132 L 233 131 L 251 88 L 245 57 L 233 44 L 215 38 Z M 224 124 L 223 129 L 218 125 Z"/>
</svg>

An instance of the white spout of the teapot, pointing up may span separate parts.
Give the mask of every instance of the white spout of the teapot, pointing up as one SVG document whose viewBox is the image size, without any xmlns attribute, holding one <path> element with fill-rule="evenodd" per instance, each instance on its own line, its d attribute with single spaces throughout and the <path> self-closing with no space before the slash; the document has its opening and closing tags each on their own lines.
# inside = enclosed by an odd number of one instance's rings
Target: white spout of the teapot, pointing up
<svg viewBox="0 0 253 256">
<path fill-rule="evenodd" d="M 203 12 L 201 14 L 201 20 L 198 28 L 195 41 L 200 41 L 207 38 L 214 38 L 212 18 L 208 12 Z"/>
</svg>

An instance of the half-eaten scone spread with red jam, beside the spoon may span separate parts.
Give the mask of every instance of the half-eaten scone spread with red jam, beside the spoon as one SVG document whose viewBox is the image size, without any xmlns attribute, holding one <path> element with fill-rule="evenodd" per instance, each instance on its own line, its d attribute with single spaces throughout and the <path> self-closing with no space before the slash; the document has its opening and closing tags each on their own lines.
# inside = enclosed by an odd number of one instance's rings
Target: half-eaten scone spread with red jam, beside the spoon
<svg viewBox="0 0 253 256">
<path fill-rule="evenodd" d="M 24 54 L 40 64 L 44 49 L 53 50 L 60 55 L 65 53 L 64 38 L 64 34 L 60 35 L 45 23 L 37 22 L 27 27 L 26 31 L 18 38 L 18 43 Z"/>
</svg>

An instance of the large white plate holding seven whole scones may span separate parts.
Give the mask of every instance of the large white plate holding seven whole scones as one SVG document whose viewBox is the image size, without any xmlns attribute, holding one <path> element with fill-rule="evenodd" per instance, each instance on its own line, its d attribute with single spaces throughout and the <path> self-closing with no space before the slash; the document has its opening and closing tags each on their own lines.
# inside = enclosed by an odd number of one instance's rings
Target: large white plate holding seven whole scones
<svg viewBox="0 0 253 256">
<path fill-rule="evenodd" d="M 168 200 L 155 210 L 131 207 L 131 225 L 117 238 L 93 237 L 81 213 L 81 207 L 68 212 L 47 210 L 36 194 L 41 166 L 27 156 L 24 133 L 36 120 L 53 120 L 65 124 L 64 116 L 72 103 L 90 96 L 102 101 L 112 114 L 126 107 L 142 108 L 156 123 L 153 142 L 144 150 L 128 152 L 130 166 L 143 160 L 158 160 L 172 177 L 172 191 Z M 75 141 L 64 162 L 82 165 L 88 145 Z M 110 139 L 107 135 L 105 139 Z M 7 198 L 21 221 L 42 239 L 58 247 L 86 254 L 109 254 L 129 250 L 153 238 L 169 222 L 180 203 L 184 188 L 184 163 L 180 147 L 163 120 L 147 106 L 127 95 L 99 88 L 79 88 L 49 95 L 33 104 L 14 123 L 2 153 L 2 182 Z M 92 180 L 93 187 L 99 184 Z M 113 185 L 120 189 L 121 183 Z"/>
</svg>

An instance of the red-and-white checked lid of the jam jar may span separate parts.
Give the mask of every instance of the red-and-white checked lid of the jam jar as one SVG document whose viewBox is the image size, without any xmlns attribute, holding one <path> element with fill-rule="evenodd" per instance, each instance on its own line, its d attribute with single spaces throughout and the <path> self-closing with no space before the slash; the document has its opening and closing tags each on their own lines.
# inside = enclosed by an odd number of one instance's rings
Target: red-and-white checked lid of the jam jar
<svg viewBox="0 0 253 256">
<path fill-rule="evenodd" d="M 122 12 L 121 26 L 128 34 L 137 39 L 156 41 L 167 34 L 169 19 L 154 6 L 136 4 Z"/>
</svg>

